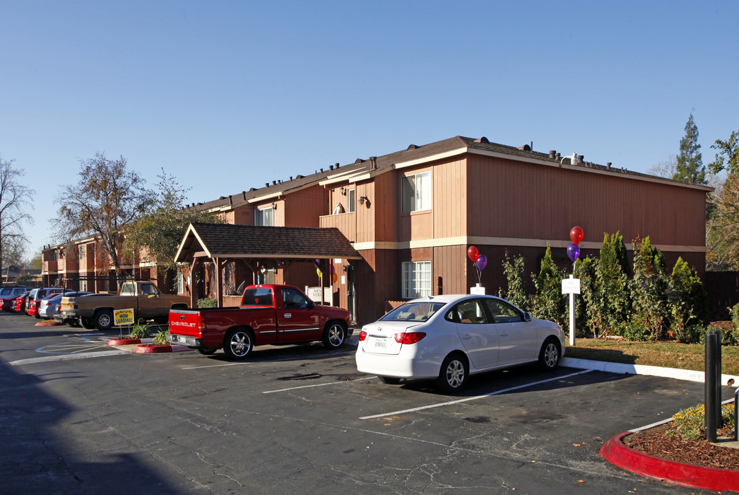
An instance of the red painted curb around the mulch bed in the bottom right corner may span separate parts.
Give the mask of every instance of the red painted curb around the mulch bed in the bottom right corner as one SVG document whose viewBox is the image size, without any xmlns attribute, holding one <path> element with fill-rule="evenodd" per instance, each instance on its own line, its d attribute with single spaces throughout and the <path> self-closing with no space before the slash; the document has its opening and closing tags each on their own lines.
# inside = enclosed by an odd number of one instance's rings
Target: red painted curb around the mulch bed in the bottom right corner
<svg viewBox="0 0 739 495">
<path fill-rule="evenodd" d="M 630 434 L 633 431 L 624 431 L 608 440 L 600 450 L 602 457 L 627 471 L 676 485 L 715 491 L 739 491 L 739 471 L 706 468 L 644 454 L 624 444 L 623 438 Z"/>
</svg>

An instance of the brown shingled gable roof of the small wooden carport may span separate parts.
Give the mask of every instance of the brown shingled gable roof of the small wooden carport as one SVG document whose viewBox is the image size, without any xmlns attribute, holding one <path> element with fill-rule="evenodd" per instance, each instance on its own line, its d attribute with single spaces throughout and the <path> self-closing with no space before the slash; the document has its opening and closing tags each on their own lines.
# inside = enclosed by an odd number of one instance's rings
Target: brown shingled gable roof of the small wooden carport
<svg viewBox="0 0 739 495">
<path fill-rule="evenodd" d="M 361 259 L 338 228 L 190 224 L 175 261 L 201 251 L 210 258 Z"/>
</svg>

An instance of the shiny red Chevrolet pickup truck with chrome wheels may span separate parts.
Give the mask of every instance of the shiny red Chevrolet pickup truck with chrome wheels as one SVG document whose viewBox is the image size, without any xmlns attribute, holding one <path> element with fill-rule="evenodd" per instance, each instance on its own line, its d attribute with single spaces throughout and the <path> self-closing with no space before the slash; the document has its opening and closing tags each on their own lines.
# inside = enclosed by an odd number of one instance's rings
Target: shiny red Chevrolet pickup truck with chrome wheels
<svg viewBox="0 0 739 495">
<path fill-rule="evenodd" d="M 169 312 L 170 344 L 226 357 L 244 359 L 253 347 L 322 341 L 328 349 L 344 345 L 350 313 L 338 307 L 316 306 L 298 287 L 250 285 L 239 307 L 188 310 L 175 304 Z"/>
</svg>

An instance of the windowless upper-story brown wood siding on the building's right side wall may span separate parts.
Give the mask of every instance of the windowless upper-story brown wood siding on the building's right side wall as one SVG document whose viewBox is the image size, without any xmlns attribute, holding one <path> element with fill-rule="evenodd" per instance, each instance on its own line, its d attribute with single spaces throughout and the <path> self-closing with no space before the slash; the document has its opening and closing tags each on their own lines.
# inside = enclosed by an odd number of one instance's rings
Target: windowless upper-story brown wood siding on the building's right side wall
<svg viewBox="0 0 739 495">
<path fill-rule="evenodd" d="M 703 246 L 704 191 L 470 155 L 466 201 L 469 235 L 567 240 L 579 225 L 585 242 L 620 231 L 627 242 Z"/>
</svg>

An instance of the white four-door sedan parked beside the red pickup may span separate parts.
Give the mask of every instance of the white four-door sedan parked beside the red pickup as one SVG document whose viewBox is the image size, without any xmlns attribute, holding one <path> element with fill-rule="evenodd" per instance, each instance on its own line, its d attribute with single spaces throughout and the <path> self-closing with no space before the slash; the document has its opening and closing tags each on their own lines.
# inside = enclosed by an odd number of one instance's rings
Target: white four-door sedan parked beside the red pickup
<svg viewBox="0 0 739 495">
<path fill-rule="evenodd" d="M 539 362 L 554 369 L 565 354 L 559 325 L 531 318 L 494 296 L 429 296 L 406 302 L 362 327 L 357 369 L 384 383 L 435 378 L 446 393 L 474 373 Z"/>
</svg>

